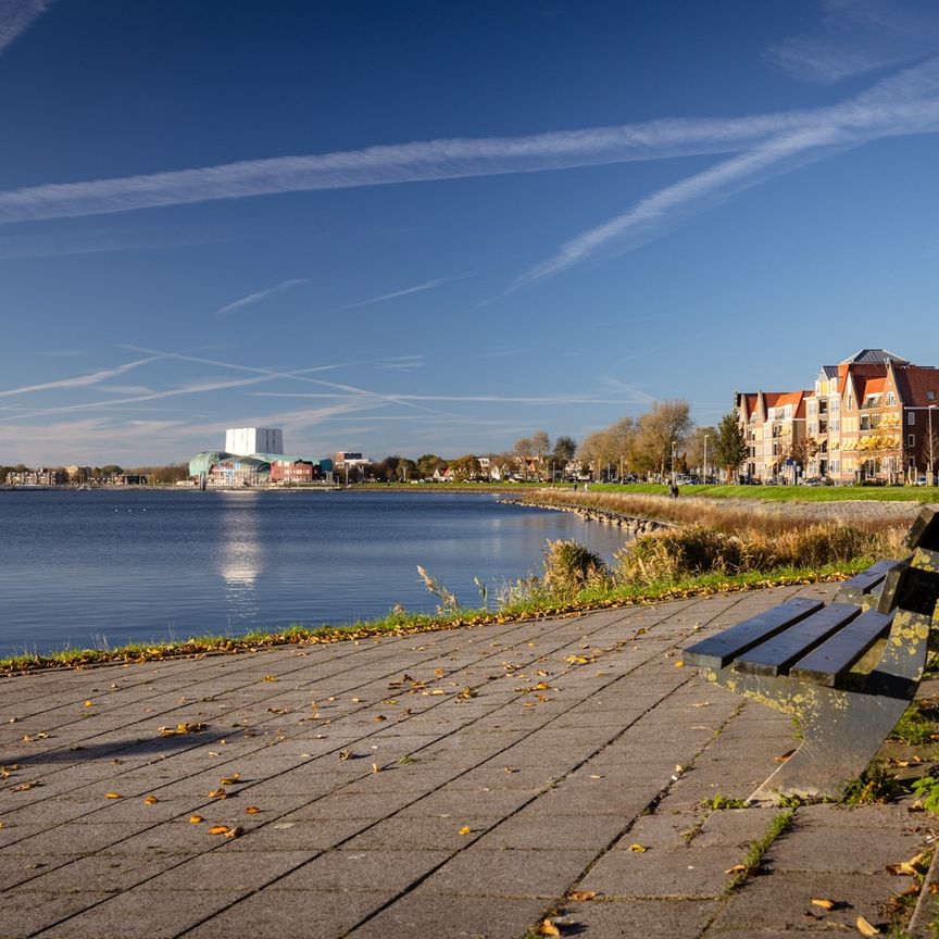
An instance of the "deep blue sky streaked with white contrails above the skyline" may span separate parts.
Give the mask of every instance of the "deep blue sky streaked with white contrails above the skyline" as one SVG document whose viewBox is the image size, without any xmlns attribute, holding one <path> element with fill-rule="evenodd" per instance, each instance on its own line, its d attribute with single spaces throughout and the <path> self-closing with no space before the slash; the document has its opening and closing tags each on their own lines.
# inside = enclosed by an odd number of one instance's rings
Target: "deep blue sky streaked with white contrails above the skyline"
<svg viewBox="0 0 939 939">
<path fill-rule="evenodd" d="M 0 463 L 454 456 L 939 365 L 939 11 L 0 0 Z"/>
</svg>

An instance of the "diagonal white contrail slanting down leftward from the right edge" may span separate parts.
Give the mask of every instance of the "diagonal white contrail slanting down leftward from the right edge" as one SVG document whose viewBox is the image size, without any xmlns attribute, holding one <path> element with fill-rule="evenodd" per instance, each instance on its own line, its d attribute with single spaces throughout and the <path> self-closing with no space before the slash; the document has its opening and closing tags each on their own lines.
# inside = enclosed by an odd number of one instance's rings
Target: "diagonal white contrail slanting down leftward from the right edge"
<svg viewBox="0 0 939 939">
<path fill-rule="evenodd" d="M 644 245 L 669 226 L 743 189 L 880 137 L 939 130 L 939 59 L 891 76 L 842 104 L 819 109 L 804 125 L 647 196 L 629 211 L 566 241 L 516 277 L 506 292 L 592 258 Z"/>
</svg>

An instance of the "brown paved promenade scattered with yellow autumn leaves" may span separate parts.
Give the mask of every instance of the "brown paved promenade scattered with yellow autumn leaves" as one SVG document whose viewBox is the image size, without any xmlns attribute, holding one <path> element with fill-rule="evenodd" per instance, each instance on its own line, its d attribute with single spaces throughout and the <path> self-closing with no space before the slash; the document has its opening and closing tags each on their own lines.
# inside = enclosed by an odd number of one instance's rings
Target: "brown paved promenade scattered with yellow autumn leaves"
<svg viewBox="0 0 939 939">
<path fill-rule="evenodd" d="M 728 890 L 778 810 L 702 800 L 792 733 L 676 652 L 832 590 L 0 679 L 0 936 L 886 932 L 929 817 L 800 807 Z"/>
</svg>

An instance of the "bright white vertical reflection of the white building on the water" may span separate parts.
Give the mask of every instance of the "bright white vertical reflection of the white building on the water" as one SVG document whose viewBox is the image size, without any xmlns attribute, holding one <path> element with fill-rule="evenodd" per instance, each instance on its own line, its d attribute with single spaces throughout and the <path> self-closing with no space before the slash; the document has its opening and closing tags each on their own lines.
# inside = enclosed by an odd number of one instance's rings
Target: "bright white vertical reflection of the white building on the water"
<svg viewBox="0 0 939 939">
<path fill-rule="evenodd" d="M 259 493 L 224 493 L 218 531 L 218 573 L 225 580 L 228 622 L 252 623 L 259 613 L 258 575 L 264 569 L 259 533 Z"/>
</svg>

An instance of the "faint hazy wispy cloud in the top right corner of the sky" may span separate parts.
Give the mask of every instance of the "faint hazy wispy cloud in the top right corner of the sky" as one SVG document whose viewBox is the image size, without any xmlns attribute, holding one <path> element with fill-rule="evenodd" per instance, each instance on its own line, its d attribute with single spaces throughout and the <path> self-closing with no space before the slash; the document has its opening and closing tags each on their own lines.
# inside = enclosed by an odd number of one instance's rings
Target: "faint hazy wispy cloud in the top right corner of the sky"
<svg viewBox="0 0 939 939">
<path fill-rule="evenodd" d="M 818 26 L 785 39 L 767 61 L 807 82 L 830 85 L 901 65 L 939 48 L 939 24 L 902 0 L 823 0 Z"/>
</svg>

